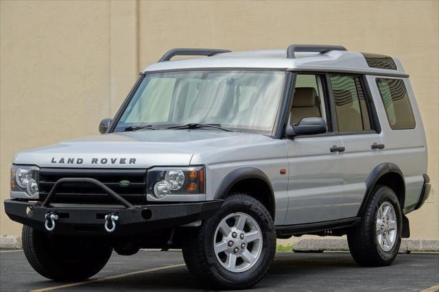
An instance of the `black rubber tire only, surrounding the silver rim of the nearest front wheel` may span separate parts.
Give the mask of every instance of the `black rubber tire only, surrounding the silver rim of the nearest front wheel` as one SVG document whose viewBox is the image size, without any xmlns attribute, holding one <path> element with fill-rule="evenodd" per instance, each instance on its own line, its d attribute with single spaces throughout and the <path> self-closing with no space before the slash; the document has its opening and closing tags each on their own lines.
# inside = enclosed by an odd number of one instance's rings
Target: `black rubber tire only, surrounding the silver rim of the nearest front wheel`
<svg viewBox="0 0 439 292">
<path fill-rule="evenodd" d="M 250 215 L 261 228 L 262 250 L 259 259 L 247 271 L 228 271 L 217 259 L 213 237 L 217 225 L 230 214 L 241 212 Z M 226 197 L 222 207 L 192 230 L 182 252 L 187 268 L 195 278 L 210 287 L 220 289 L 246 289 L 257 284 L 267 273 L 276 252 L 276 234 L 270 212 L 257 199 L 246 194 L 233 193 Z"/>
</svg>

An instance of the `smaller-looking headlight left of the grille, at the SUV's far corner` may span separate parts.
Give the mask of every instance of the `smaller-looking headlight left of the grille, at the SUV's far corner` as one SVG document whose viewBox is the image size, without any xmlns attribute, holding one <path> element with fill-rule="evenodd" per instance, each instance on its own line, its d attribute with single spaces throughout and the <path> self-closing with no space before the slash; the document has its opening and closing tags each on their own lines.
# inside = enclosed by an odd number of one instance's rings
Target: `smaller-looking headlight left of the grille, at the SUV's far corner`
<svg viewBox="0 0 439 292">
<path fill-rule="evenodd" d="M 26 197 L 38 197 L 38 171 L 38 167 L 12 165 L 11 191 L 24 193 Z"/>
</svg>

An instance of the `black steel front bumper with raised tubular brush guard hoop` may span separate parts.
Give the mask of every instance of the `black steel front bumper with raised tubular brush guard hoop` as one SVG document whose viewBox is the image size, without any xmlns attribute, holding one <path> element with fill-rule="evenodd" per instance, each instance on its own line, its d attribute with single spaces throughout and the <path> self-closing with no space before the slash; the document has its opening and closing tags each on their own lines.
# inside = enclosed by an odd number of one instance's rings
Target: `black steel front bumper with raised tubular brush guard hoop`
<svg viewBox="0 0 439 292">
<path fill-rule="evenodd" d="M 120 205 L 51 204 L 62 184 L 94 184 Z M 37 230 L 64 235 L 134 236 L 182 226 L 211 217 L 223 200 L 134 206 L 93 178 L 61 178 L 43 203 L 6 199 L 13 221 Z M 30 210 L 30 212 L 29 212 Z"/>
</svg>

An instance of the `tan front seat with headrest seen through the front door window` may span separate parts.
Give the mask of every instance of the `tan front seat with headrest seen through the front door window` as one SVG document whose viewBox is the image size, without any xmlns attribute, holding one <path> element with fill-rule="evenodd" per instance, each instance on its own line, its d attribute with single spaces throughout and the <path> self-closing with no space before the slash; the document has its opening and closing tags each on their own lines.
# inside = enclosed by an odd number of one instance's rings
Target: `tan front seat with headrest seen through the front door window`
<svg viewBox="0 0 439 292">
<path fill-rule="evenodd" d="M 322 117 L 320 99 L 313 87 L 298 87 L 294 92 L 289 123 L 297 125 L 305 117 Z"/>
</svg>

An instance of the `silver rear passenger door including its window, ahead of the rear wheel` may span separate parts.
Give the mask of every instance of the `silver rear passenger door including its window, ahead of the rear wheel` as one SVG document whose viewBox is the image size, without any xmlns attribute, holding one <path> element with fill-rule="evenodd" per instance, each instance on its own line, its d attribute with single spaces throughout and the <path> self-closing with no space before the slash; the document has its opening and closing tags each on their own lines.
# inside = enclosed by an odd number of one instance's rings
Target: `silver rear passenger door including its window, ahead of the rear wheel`
<svg viewBox="0 0 439 292">
<path fill-rule="evenodd" d="M 375 106 L 361 75 L 330 74 L 338 134 L 344 147 L 344 203 L 340 217 L 355 217 L 366 180 L 383 162 L 383 140 Z"/>
</svg>

